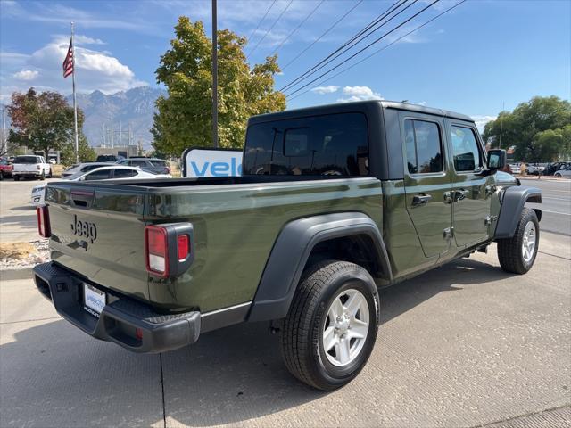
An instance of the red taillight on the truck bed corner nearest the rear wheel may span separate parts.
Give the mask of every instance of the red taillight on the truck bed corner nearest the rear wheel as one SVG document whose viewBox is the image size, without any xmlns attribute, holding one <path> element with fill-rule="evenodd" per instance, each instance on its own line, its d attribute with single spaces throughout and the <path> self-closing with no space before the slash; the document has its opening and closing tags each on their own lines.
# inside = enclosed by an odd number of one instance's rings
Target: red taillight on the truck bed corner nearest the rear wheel
<svg viewBox="0 0 571 428">
<path fill-rule="evenodd" d="M 145 265 L 153 276 L 166 278 L 186 272 L 193 262 L 193 226 L 170 223 L 145 227 Z"/>
</svg>

